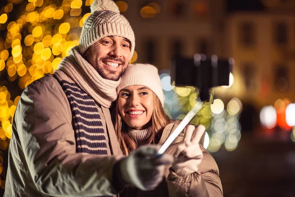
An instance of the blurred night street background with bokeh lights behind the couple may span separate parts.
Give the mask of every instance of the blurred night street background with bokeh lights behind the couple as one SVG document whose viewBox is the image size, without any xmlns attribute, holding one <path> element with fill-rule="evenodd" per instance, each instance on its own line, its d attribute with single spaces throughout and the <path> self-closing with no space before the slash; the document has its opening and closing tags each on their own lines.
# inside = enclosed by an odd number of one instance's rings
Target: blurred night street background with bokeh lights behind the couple
<svg viewBox="0 0 295 197">
<path fill-rule="evenodd" d="M 78 45 L 92 1 L 0 1 L 0 196 L 20 95 Z M 130 63 L 158 67 L 171 118 L 198 97 L 170 82 L 173 57 L 234 62 L 230 85 L 214 88 L 192 120 L 207 128 L 224 196 L 294 197 L 295 0 L 114 1 L 135 33 Z"/>
</svg>

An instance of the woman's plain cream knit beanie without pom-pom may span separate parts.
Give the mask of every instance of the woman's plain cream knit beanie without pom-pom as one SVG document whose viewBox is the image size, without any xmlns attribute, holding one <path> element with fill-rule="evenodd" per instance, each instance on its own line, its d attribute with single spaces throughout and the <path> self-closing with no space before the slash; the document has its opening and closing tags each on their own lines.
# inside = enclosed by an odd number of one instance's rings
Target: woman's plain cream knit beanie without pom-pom
<svg viewBox="0 0 295 197">
<path fill-rule="evenodd" d="M 141 85 L 148 87 L 159 98 L 164 106 L 164 94 L 158 69 L 148 64 L 131 64 L 121 76 L 121 82 L 117 88 L 120 90 L 128 86 Z"/>
</svg>

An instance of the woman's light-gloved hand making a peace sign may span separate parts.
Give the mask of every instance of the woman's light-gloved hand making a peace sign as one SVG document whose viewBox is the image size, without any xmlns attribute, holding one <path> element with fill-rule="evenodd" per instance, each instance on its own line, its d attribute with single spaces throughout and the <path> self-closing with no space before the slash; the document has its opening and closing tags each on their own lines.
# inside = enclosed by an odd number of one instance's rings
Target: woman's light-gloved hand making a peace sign
<svg viewBox="0 0 295 197">
<path fill-rule="evenodd" d="M 177 144 L 177 150 L 174 153 L 175 162 L 172 168 L 178 175 L 186 176 L 198 171 L 198 166 L 203 159 L 203 151 L 199 142 L 204 132 L 203 125 L 197 128 L 193 125 L 187 127 L 184 138 Z"/>
</svg>

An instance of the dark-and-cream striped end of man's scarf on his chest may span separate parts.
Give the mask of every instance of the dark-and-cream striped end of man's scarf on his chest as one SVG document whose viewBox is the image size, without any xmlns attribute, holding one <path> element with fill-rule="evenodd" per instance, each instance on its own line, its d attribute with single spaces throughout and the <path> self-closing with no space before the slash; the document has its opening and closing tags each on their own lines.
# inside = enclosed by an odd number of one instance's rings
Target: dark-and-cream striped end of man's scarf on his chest
<svg viewBox="0 0 295 197">
<path fill-rule="evenodd" d="M 107 142 L 94 100 L 73 81 L 59 81 L 72 111 L 76 152 L 107 155 Z"/>
</svg>

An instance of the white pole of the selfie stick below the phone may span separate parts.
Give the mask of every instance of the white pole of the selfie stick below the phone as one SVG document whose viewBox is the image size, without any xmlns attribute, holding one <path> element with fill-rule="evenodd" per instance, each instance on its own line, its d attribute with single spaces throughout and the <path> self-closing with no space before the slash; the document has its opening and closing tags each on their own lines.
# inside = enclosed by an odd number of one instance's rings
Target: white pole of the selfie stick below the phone
<svg viewBox="0 0 295 197">
<path fill-rule="evenodd" d="M 173 133 L 168 137 L 162 147 L 158 150 L 158 155 L 163 154 L 166 149 L 170 146 L 170 144 L 176 139 L 176 137 L 180 134 L 180 132 L 186 127 L 186 125 L 193 119 L 193 117 L 198 113 L 198 111 L 202 108 L 203 102 L 200 98 L 197 99 L 197 103 L 195 106 L 186 114 L 177 128 L 173 131 Z"/>
</svg>

